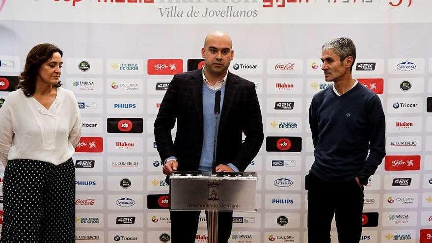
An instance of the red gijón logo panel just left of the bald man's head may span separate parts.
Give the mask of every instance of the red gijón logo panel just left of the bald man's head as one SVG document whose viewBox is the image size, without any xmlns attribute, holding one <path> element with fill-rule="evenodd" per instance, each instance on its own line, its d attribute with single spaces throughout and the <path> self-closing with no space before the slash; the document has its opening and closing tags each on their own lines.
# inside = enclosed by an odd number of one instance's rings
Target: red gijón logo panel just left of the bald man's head
<svg viewBox="0 0 432 243">
<path fill-rule="evenodd" d="M 183 73 L 183 59 L 148 59 L 149 75 L 172 75 Z"/>
</svg>

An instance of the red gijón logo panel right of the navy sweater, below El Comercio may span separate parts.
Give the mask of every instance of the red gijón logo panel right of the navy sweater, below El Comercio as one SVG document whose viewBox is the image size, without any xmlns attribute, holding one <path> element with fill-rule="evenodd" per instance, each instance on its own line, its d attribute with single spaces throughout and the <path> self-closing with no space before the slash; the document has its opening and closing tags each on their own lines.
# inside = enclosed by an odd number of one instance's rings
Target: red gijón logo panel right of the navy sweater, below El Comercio
<svg viewBox="0 0 432 243">
<path fill-rule="evenodd" d="M 387 171 L 419 170 L 419 155 L 387 155 L 384 161 L 384 169 Z"/>
</svg>

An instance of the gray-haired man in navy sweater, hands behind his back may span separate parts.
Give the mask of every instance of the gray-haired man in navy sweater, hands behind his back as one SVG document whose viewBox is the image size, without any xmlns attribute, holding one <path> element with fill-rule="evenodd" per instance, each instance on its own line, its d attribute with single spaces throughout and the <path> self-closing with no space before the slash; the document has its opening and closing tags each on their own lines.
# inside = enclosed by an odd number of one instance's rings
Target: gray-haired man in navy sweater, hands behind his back
<svg viewBox="0 0 432 243">
<path fill-rule="evenodd" d="M 355 46 L 342 37 L 325 43 L 325 81 L 309 108 L 315 161 L 306 176 L 309 243 L 330 243 L 335 215 L 339 243 L 358 243 L 363 189 L 385 156 L 385 120 L 378 96 L 352 79 Z M 368 154 L 369 150 L 369 154 Z"/>
</svg>

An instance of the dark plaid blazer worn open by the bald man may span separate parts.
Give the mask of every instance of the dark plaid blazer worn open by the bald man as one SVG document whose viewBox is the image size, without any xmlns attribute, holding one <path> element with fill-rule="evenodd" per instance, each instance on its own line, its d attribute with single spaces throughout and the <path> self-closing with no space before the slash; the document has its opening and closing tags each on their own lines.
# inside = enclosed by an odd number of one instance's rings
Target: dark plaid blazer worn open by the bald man
<svg viewBox="0 0 432 243">
<path fill-rule="evenodd" d="M 175 156 L 179 171 L 196 171 L 203 143 L 202 69 L 177 74 L 163 97 L 154 123 L 162 162 Z M 171 130 L 177 119 L 174 142 Z M 246 135 L 242 142 L 242 132 Z M 263 143 L 263 122 L 255 84 L 228 72 L 219 121 L 216 164 L 233 163 L 240 171 Z"/>
</svg>

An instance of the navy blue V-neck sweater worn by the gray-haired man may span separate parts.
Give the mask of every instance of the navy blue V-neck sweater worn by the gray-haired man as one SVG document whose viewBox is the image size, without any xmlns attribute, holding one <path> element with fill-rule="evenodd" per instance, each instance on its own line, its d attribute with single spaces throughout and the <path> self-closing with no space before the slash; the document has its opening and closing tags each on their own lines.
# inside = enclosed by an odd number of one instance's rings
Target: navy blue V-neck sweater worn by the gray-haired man
<svg viewBox="0 0 432 243">
<path fill-rule="evenodd" d="M 381 101 L 360 83 L 341 96 L 332 87 L 317 93 L 309 108 L 309 123 L 315 147 L 310 172 L 325 181 L 369 177 L 385 156 Z"/>
</svg>

